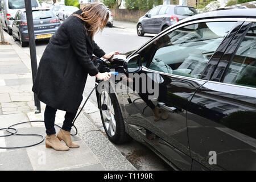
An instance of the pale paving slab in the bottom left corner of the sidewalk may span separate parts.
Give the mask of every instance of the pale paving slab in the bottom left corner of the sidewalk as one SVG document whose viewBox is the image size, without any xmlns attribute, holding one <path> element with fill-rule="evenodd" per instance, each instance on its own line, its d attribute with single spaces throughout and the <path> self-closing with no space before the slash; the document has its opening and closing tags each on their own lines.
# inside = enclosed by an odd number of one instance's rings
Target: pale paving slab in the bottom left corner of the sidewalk
<svg viewBox="0 0 256 182">
<path fill-rule="evenodd" d="M 26 149 L 0 152 L 0 171 L 32 171 Z"/>
</svg>

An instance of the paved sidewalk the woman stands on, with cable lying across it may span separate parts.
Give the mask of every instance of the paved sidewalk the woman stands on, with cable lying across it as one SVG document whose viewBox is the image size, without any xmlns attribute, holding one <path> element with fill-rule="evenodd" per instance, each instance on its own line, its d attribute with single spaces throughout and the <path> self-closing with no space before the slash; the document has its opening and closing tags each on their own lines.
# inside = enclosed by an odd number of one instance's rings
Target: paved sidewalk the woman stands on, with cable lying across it
<svg viewBox="0 0 256 182">
<path fill-rule="evenodd" d="M 4 32 L 11 45 L 0 45 L 0 128 L 14 123 L 43 120 L 42 113 L 34 114 L 34 95 L 30 56 Z M 84 113 L 98 111 L 88 103 Z M 56 123 L 64 120 L 64 111 L 57 111 Z M 95 117 L 98 116 L 96 112 Z M 68 152 L 57 152 L 44 146 L 16 150 L 0 149 L 0 171 L 2 170 L 135 170 L 131 163 L 113 146 L 93 122 L 81 114 L 76 126 L 79 134 L 73 137 L 80 148 Z M 19 125 L 18 133 L 45 135 L 44 123 Z M 56 131 L 59 129 L 56 128 Z M 0 135 L 7 134 L 0 131 Z M 39 142 L 37 137 L 0 137 L 0 147 L 23 146 Z"/>
</svg>

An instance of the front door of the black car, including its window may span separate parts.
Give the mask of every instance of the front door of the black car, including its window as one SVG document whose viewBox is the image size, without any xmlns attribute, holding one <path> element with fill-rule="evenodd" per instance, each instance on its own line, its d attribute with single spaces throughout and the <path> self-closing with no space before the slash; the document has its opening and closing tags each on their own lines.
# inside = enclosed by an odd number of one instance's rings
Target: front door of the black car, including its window
<svg viewBox="0 0 256 182">
<path fill-rule="evenodd" d="M 136 52 L 142 57 L 143 70 L 133 75 L 135 78 L 130 82 L 136 85 L 136 77 L 143 78 L 143 75 L 146 79 L 139 82 L 139 90 L 131 89 L 137 92 L 123 94 L 127 123 L 179 169 L 191 169 L 187 133 L 191 98 L 207 82 L 203 73 L 211 75 L 214 71 L 208 67 L 209 60 L 220 59 L 218 48 L 225 47 L 225 40 L 234 35 L 232 32 L 238 24 L 236 20 L 221 19 L 181 24 L 156 36 Z M 154 92 L 148 87 L 151 82 L 154 82 Z M 147 92 L 143 92 L 143 88 Z"/>
</svg>

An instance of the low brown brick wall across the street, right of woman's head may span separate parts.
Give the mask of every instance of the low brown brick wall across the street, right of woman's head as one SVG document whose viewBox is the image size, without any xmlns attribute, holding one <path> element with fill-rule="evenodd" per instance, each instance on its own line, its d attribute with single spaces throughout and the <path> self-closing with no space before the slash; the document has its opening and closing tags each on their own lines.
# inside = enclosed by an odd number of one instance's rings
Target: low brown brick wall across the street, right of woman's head
<svg viewBox="0 0 256 182">
<path fill-rule="evenodd" d="M 111 9 L 114 13 L 114 20 L 121 20 L 127 22 L 138 22 L 139 18 L 147 13 L 141 10 L 127 10 L 127 9 Z"/>
</svg>

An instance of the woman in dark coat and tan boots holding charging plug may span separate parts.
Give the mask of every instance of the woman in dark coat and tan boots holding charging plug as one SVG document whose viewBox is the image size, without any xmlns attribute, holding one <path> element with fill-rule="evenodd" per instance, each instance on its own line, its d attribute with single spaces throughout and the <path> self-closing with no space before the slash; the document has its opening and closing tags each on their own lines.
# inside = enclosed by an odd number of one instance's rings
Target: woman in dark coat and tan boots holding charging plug
<svg viewBox="0 0 256 182">
<path fill-rule="evenodd" d="M 86 5 L 61 24 L 52 36 L 40 60 L 32 91 L 46 104 L 44 123 L 46 147 L 57 151 L 77 148 L 71 140 L 73 119 L 82 101 L 87 75 L 99 80 L 109 80 L 110 73 L 99 73 L 92 54 L 110 59 L 115 53 L 106 54 L 94 42 L 94 35 L 103 30 L 109 19 L 109 11 L 102 3 Z M 66 111 L 63 127 L 56 137 L 55 113 Z M 60 141 L 64 140 L 65 146 Z"/>
</svg>

